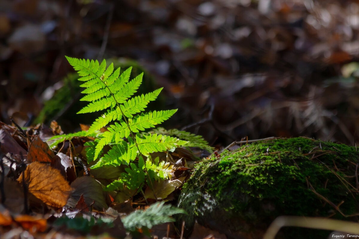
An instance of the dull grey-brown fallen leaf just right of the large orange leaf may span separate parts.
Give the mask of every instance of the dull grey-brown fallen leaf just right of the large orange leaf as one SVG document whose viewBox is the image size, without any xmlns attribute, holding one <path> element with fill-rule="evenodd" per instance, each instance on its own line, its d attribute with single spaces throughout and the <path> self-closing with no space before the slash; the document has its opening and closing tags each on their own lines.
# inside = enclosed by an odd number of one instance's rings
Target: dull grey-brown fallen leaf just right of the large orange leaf
<svg viewBox="0 0 359 239">
<path fill-rule="evenodd" d="M 105 197 L 103 196 L 102 187 L 94 178 L 88 176 L 76 178 L 76 180 L 71 183 L 71 187 L 75 190 L 71 193 L 67 201 L 68 206 L 75 207 L 81 195 L 83 195 L 87 205 L 93 204 L 93 206 L 99 210 L 106 210 L 108 208 Z"/>
</svg>

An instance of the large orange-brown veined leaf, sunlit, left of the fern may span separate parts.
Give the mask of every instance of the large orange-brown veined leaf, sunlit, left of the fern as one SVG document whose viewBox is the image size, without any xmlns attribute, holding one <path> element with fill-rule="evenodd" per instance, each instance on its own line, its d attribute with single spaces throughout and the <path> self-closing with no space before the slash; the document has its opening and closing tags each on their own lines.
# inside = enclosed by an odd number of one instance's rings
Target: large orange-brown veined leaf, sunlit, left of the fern
<svg viewBox="0 0 359 239">
<path fill-rule="evenodd" d="M 29 192 L 38 199 L 53 207 L 66 204 L 72 189 L 59 170 L 34 162 L 29 164 L 23 173 Z M 18 181 L 22 182 L 22 175 Z"/>
</svg>

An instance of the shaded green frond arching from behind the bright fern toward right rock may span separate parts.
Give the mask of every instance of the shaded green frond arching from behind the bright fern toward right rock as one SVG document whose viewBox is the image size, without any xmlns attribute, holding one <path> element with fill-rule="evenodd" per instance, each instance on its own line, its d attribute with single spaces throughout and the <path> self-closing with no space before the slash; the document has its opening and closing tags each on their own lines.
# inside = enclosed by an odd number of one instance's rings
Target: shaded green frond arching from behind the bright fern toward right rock
<svg viewBox="0 0 359 239">
<path fill-rule="evenodd" d="M 188 141 L 188 143 L 186 145 L 183 145 L 183 146 L 186 146 L 186 147 L 197 147 L 197 148 L 205 149 L 209 153 L 213 153 L 213 151 L 214 151 L 214 148 L 210 147 L 208 145 L 208 142 L 206 140 L 204 140 L 201 135 L 195 135 L 195 134 L 192 134 L 190 132 L 181 131 L 181 130 L 178 130 L 178 129 L 166 130 L 166 129 L 162 128 L 162 127 L 158 127 L 156 129 L 153 129 L 151 131 L 151 133 L 165 134 L 165 135 L 170 135 L 170 136 L 173 136 L 173 137 L 176 137 L 176 138 L 179 138 L 179 139 L 186 140 L 186 141 Z"/>
</svg>

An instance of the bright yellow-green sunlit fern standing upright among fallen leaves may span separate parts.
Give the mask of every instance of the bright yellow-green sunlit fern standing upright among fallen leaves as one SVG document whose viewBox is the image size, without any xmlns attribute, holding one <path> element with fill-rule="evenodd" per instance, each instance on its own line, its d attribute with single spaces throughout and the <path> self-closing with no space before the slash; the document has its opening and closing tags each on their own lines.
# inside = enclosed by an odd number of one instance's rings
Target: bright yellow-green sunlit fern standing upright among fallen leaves
<svg viewBox="0 0 359 239">
<path fill-rule="evenodd" d="M 177 111 L 145 111 L 149 102 L 157 99 L 162 88 L 135 96 L 143 74 L 130 80 L 131 67 L 120 74 L 120 68 L 115 69 L 113 64 L 106 68 L 105 60 L 99 63 L 66 58 L 83 82 L 80 86 L 85 88 L 81 91 L 84 96 L 80 100 L 88 101 L 78 114 L 106 111 L 95 119 L 87 132 L 56 135 L 52 137 L 55 141 L 51 146 L 73 137 L 95 138 L 84 144 L 88 163 L 94 161 L 92 168 L 123 165 L 125 170 L 118 180 L 107 185 L 106 190 L 127 187 L 139 192 L 146 184 L 151 185 L 153 180 L 169 178 L 172 167 L 159 162 L 158 158 L 152 162 L 150 153 L 171 150 L 188 142 L 170 135 L 144 132 L 169 119 Z M 104 127 L 107 130 L 99 132 Z M 109 147 L 106 153 L 103 152 L 105 145 Z"/>
</svg>

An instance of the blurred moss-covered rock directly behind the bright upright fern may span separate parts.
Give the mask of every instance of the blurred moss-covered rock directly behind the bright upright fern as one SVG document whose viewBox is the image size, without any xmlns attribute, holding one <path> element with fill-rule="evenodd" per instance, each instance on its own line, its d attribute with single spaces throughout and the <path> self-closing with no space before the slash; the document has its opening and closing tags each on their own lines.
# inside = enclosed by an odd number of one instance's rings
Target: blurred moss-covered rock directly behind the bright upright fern
<svg viewBox="0 0 359 239">
<path fill-rule="evenodd" d="M 156 82 L 143 67 L 137 61 L 125 59 L 125 58 L 111 58 L 106 60 L 107 66 L 110 63 L 113 63 L 114 67 L 121 67 L 121 73 L 129 67 L 132 67 L 130 79 L 140 75 L 144 72 L 142 85 L 140 86 L 138 94 L 145 94 L 159 87 L 156 85 Z M 70 73 L 67 77 L 64 78 L 64 86 L 62 86 L 52 98 L 44 103 L 44 107 L 41 110 L 40 114 L 35 119 L 34 123 L 50 123 L 52 120 L 56 120 L 62 126 L 62 129 L 65 129 L 68 132 L 72 132 L 75 128 L 79 128 L 79 124 L 92 124 L 92 122 L 99 116 L 101 113 L 87 113 L 84 117 L 83 114 L 76 114 L 80 109 L 88 104 L 86 101 L 79 101 L 83 96 L 81 91 L 84 89 L 80 87 L 81 81 L 78 81 L 79 78 L 77 73 Z M 159 95 L 159 100 L 154 104 L 164 104 L 163 96 Z M 154 104 L 150 104 L 148 110 L 158 110 L 162 109 L 161 106 L 156 107 Z M 105 112 L 104 110 L 103 112 Z"/>
</svg>

